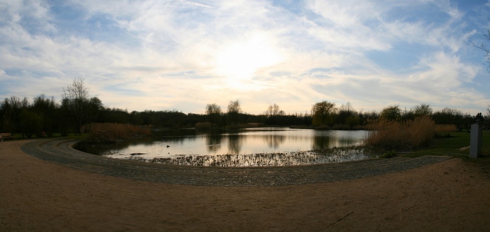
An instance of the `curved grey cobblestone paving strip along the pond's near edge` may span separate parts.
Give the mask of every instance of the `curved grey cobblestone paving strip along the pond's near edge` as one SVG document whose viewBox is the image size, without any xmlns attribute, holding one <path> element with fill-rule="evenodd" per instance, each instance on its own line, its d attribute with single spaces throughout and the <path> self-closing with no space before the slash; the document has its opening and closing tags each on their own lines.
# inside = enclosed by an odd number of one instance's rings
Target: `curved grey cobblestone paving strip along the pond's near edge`
<svg viewBox="0 0 490 232">
<path fill-rule="evenodd" d="M 80 170 L 136 180 L 196 186 L 285 186 L 341 181 L 397 172 L 441 162 L 448 157 L 373 159 L 367 161 L 274 167 L 182 166 L 105 158 L 73 148 L 73 139 L 40 139 L 21 149 L 38 159 Z"/>
</svg>

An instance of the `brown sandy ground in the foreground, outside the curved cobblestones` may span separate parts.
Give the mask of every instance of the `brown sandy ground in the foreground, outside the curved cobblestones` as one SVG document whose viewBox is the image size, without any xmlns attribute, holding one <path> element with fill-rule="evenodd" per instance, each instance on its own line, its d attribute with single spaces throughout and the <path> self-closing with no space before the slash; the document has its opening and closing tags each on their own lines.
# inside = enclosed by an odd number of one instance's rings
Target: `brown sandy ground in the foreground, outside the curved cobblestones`
<svg viewBox="0 0 490 232">
<path fill-rule="evenodd" d="M 460 159 L 355 180 L 214 187 L 137 181 L 0 143 L 0 231 L 490 231 L 490 174 Z"/>
</svg>

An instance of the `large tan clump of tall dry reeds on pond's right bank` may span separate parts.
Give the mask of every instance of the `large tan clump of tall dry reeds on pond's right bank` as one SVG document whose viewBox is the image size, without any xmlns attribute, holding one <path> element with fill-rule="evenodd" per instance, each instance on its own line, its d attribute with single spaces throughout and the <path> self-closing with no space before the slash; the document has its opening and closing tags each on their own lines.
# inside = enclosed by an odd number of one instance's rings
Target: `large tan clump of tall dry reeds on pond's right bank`
<svg viewBox="0 0 490 232">
<path fill-rule="evenodd" d="M 435 135 L 434 121 L 417 117 L 406 122 L 377 120 L 368 124 L 365 144 L 389 149 L 410 149 L 426 145 Z"/>
</svg>

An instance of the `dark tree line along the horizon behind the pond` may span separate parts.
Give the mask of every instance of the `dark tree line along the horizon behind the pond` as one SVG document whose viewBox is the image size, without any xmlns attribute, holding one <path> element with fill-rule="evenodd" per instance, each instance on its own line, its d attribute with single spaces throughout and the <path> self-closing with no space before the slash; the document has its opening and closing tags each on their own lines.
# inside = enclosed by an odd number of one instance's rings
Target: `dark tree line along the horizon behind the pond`
<svg viewBox="0 0 490 232">
<path fill-rule="evenodd" d="M 246 127 L 251 124 L 265 126 L 303 126 L 333 129 L 363 129 L 369 120 L 411 120 L 417 116 L 429 116 L 436 124 L 454 124 L 468 127 L 475 120 L 488 122 L 486 116 L 463 114 L 456 109 L 444 108 L 433 112 L 428 104 L 420 104 L 409 110 L 398 105 L 385 107 L 382 111 L 356 111 L 350 103 L 337 106 L 322 101 L 312 106 L 311 112 L 286 114 L 277 104 L 270 105 L 263 114 L 244 113 L 240 101 L 230 101 L 226 112 L 216 103 L 205 106 L 205 114 L 184 114 L 177 110 L 142 112 L 104 107 L 97 96 L 90 96 L 84 79 L 75 77 L 73 83 L 63 88 L 61 101 L 40 94 L 30 102 L 26 97 L 6 97 L 0 102 L 0 132 L 21 133 L 23 137 L 53 136 L 60 133 L 81 134 L 90 130 L 91 122 L 115 122 L 133 125 L 151 125 L 154 128 L 194 127 L 196 123 L 209 122 L 212 127 Z M 490 108 L 490 107 L 489 107 Z"/>
</svg>

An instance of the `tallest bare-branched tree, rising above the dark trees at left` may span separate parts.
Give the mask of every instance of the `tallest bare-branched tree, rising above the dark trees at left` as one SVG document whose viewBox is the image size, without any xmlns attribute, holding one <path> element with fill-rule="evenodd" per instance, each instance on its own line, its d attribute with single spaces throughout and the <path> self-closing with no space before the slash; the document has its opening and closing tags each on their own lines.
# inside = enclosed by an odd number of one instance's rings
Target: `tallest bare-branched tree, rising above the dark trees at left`
<svg viewBox="0 0 490 232">
<path fill-rule="evenodd" d="M 68 110 L 75 123 L 75 132 L 81 135 L 81 127 L 88 122 L 89 91 L 85 87 L 84 78 L 73 79 L 72 85 L 63 87 L 62 105 Z"/>
</svg>

